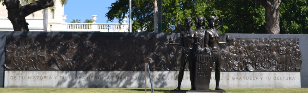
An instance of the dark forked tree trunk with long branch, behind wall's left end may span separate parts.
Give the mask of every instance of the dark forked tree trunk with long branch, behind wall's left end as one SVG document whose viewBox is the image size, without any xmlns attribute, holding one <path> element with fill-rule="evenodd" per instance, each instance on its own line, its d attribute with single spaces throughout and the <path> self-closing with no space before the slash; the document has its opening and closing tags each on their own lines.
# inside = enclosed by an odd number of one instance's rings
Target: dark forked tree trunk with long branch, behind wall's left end
<svg viewBox="0 0 308 93">
<path fill-rule="evenodd" d="M 14 31 L 29 31 L 26 16 L 35 11 L 45 9 L 54 5 L 53 0 L 39 0 L 21 6 L 19 0 L 4 0 L 8 18 L 11 21 Z"/>
</svg>

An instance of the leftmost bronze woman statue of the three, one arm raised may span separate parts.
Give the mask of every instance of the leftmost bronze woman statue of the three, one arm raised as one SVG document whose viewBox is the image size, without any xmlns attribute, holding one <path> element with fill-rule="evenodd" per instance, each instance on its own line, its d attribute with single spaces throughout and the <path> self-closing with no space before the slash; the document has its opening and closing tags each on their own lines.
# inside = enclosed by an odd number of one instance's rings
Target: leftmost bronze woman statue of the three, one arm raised
<svg viewBox="0 0 308 93">
<path fill-rule="evenodd" d="M 197 36 L 197 32 L 191 28 L 193 25 L 192 18 L 190 17 L 185 18 L 184 24 L 186 26 L 186 29 L 180 26 L 180 22 L 178 19 L 177 25 L 182 31 L 180 34 L 181 43 L 176 43 L 172 39 L 169 41 L 170 45 L 183 46 L 182 55 L 180 59 L 180 72 L 179 72 L 179 78 L 178 78 L 178 87 L 175 90 L 181 90 L 181 83 L 183 80 L 184 69 L 185 69 L 185 65 L 187 62 L 189 62 L 189 71 L 190 71 L 189 76 L 190 76 L 190 81 L 192 84 L 192 90 L 194 90 L 193 89 L 194 78 L 192 78 L 194 77 L 194 73 L 192 72 L 194 70 L 192 68 L 193 65 L 191 64 L 193 64 L 193 58 L 192 58 L 193 47 L 194 47 L 194 44 L 197 42 L 196 38 L 198 36 Z"/>
</svg>

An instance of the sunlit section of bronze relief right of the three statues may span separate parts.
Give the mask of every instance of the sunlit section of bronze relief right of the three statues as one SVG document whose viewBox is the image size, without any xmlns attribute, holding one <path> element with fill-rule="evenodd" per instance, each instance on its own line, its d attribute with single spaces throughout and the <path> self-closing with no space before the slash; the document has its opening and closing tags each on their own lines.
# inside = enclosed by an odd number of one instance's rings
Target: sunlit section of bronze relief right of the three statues
<svg viewBox="0 0 308 93">
<path fill-rule="evenodd" d="M 301 69 L 298 39 L 233 38 L 220 48 L 222 71 L 298 72 Z"/>
</svg>

